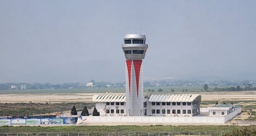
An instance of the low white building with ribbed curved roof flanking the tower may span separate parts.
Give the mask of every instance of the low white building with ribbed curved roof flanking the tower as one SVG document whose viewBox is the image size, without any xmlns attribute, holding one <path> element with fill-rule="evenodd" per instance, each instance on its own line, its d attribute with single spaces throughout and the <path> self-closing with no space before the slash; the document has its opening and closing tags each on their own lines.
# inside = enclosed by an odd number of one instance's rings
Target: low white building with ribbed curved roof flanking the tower
<svg viewBox="0 0 256 136">
<path fill-rule="evenodd" d="M 139 116 L 197 116 L 200 114 L 201 96 L 198 94 L 145 96 Z M 94 95 L 93 101 L 100 116 L 133 116 L 126 110 L 126 95 Z M 128 111 L 128 113 L 126 112 Z"/>
</svg>

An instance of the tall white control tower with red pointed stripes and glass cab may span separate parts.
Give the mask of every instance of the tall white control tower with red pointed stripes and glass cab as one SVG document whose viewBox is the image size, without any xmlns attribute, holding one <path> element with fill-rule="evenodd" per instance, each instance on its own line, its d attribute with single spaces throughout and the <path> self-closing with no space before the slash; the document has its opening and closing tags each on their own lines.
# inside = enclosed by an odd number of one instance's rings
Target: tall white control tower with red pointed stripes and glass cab
<svg viewBox="0 0 256 136">
<path fill-rule="evenodd" d="M 146 36 L 127 34 L 122 45 L 126 58 L 126 115 L 143 116 L 143 66 L 142 60 L 148 45 Z"/>
</svg>

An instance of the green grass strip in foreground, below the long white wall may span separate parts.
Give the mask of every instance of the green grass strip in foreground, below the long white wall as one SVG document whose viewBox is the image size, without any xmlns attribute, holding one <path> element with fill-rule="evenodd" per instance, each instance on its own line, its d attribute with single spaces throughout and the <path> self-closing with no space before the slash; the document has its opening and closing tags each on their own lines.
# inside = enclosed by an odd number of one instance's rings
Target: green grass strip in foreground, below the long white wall
<svg viewBox="0 0 256 136">
<path fill-rule="evenodd" d="M 124 132 L 124 133 L 158 133 L 158 132 L 231 132 L 238 126 L 62 126 L 62 132 Z M 251 126 L 256 129 L 256 126 Z M 29 126 L 2 126 L 1 133 L 27 132 L 59 132 L 60 127 L 29 127 Z"/>
</svg>

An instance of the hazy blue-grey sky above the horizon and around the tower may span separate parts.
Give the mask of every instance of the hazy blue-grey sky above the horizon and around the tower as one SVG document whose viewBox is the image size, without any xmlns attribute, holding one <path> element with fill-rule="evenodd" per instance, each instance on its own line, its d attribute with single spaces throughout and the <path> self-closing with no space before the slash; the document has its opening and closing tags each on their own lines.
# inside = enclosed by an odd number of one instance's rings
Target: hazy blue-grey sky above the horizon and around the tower
<svg viewBox="0 0 256 136">
<path fill-rule="evenodd" d="M 0 0 L 0 83 L 125 81 L 144 33 L 149 79 L 256 79 L 256 1 Z"/>
</svg>

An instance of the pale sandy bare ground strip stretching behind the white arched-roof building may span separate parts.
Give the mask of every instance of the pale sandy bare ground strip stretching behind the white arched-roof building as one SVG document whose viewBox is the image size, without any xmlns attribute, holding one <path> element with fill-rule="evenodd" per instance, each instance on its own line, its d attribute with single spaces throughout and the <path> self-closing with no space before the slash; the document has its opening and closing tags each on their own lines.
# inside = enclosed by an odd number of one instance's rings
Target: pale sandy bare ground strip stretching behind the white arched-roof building
<svg viewBox="0 0 256 136">
<path fill-rule="evenodd" d="M 93 95 L 100 93 L 76 94 L 0 94 L 0 103 L 59 103 L 92 102 Z M 199 92 L 202 101 L 256 101 L 256 91 L 241 92 Z"/>
</svg>

